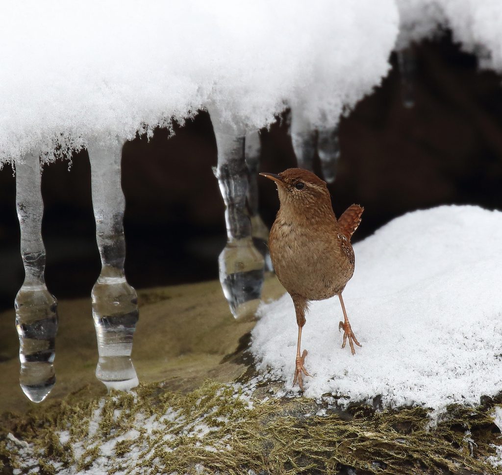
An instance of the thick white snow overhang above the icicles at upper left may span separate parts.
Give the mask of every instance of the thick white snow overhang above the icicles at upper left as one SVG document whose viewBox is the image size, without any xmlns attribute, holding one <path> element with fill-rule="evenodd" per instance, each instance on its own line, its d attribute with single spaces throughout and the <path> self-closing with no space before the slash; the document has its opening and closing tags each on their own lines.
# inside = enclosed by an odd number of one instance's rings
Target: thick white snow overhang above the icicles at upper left
<svg viewBox="0 0 502 475">
<path fill-rule="evenodd" d="M 267 126 L 302 98 L 335 122 L 380 83 L 394 0 L 10 3 L 0 29 L 0 165 L 151 133 L 211 105 Z"/>
</svg>

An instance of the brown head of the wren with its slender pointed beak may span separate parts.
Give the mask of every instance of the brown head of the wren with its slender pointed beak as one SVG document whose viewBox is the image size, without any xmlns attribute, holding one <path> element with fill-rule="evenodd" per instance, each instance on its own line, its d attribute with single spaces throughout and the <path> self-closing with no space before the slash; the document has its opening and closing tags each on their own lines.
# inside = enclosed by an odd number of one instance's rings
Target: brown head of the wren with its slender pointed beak
<svg viewBox="0 0 502 475">
<path fill-rule="evenodd" d="M 279 175 L 273 173 L 260 175 L 276 182 L 281 207 L 316 209 L 329 203 L 329 208 L 331 208 L 326 182 L 308 170 L 289 168 Z"/>
</svg>

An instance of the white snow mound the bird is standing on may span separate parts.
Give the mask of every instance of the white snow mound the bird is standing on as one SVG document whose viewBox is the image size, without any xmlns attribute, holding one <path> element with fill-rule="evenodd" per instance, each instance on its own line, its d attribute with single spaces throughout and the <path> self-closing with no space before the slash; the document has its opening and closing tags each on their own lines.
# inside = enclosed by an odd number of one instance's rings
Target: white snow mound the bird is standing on
<svg viewBox="0 0 502 475">
<path fill-rule="evenodd" d="M 437 409 L 502 391 L 501 246 L 502 213 L 474 206 L 415 211 L 355 244 L 343 299 L 362 348 L 355 356 L 348 343 L 340 348 L 338 297 L 312 302 L 302 334 L 313 375 L 305 395 Z M 293 302 L 285 294 L 260 311 L 252 351 L 290 389 Z"/>
</svg>

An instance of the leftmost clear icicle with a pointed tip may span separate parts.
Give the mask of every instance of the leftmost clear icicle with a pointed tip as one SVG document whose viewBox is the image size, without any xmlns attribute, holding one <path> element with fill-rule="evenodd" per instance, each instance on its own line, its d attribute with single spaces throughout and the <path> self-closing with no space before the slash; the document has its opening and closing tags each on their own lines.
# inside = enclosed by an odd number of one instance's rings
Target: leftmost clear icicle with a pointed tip
<svg viewBox="0 0 502 475">
<path fill-rule="evenodd" d="M 25 268 L 25 280 L 15 301 L 21 361 L 19 381 L 33 402 L 43 401 L 56 383 L 54 343 L 58 329 L 57 301 L 47 290 L 44 279 L 40 173 L 38 153 L 29 153 L 16 163 L 16 208 Z"/>
</svg>

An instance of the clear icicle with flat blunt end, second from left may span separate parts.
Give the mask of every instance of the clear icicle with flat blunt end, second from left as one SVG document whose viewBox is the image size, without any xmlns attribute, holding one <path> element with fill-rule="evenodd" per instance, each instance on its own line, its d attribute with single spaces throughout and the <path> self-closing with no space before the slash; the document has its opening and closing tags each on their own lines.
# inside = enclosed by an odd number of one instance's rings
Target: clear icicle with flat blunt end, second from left
<svg viewBox="0 0 502 475">
<path fill-rule="evenodd" d="M 101 273 L 92 288 L 92 315 L 99 361 L 96 377 L 109 389 L 127 390 L 138 385 L 131 361 L 138 322 L 136 290 L 124 275 L 126 243 L 122 218 L 125 200 L 120 186 L 122 145 L 90 143 L 92 205 Z"/>
</svg>

